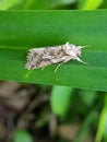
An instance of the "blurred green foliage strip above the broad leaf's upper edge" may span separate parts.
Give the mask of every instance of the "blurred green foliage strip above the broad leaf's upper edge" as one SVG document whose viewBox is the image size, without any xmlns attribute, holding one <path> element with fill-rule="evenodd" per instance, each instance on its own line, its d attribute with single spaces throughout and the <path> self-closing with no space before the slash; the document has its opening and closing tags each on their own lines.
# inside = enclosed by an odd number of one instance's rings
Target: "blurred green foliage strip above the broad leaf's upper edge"
<svg viewBox="0 0 107 142">
<path fill-rule="evenodd" d="M 0 10 L 95 10 L 107 8 L 107 0 L 0 0 Z"/>
</svg>

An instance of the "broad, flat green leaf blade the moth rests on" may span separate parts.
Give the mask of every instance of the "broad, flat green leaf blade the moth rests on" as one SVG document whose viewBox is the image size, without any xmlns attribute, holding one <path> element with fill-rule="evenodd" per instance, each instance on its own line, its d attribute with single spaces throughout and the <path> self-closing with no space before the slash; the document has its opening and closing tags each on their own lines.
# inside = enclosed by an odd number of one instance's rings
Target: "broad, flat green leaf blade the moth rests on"
<svg viewBox="0 0 107 142">
<path fill-rule="evenodd" d="M 1 11 L 0 80 L 66 85 L 107 91 L 107 10 L 97 11 Z M 44 71 L 25 70 L 29 48 L 70 42 L 90 45 L 81 59 L 69 61 L 56 73 L 56 64 Z"/>
</svg>

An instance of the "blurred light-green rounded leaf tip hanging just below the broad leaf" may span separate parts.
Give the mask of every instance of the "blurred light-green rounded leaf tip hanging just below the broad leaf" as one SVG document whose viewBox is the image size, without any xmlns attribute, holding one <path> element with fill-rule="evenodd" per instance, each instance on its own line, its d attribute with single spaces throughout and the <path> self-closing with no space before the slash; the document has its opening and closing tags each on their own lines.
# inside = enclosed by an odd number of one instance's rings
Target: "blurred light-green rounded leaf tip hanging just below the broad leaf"
<svg viewBox="0 0 107 142">
<path fill-rule="evenodd" d="M 54 86 L 50 105 L 54 114 L 63 116 L 68 109 L 68 105 L 71 97 L 72 87 L 68 86 Z"/>
</svg>

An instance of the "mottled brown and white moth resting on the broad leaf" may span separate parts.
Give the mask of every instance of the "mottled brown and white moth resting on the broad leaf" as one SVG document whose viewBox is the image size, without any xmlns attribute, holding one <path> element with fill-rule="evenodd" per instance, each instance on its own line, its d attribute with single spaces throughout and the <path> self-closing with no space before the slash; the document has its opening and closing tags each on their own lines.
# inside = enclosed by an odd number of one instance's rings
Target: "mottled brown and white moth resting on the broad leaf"
<svg viewBox="0 0 107 142">
<path fill-rule="evenodd" d="M 59 63 L 55 69 L 56 72 L 61 64 L 70 60 L 78 60 L 87 64 L 79 58 L 81 57 L 81 49 L 84 47 L 67 42 L 64 45 L 29 49 L 26 56 L 25 69 L 33 70 L 41 68 L 43 70 L 47 66 Z"/>
</svg>

